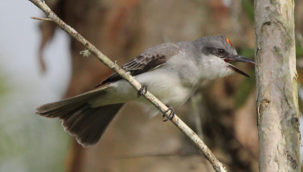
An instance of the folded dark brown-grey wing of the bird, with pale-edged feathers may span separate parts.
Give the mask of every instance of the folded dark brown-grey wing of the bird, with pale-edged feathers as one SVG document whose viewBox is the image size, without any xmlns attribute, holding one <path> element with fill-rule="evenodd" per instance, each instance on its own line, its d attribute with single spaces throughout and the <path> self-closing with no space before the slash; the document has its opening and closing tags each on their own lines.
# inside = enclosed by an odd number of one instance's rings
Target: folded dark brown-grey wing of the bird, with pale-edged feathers
<svg viewBox="0 0 303 172">
<path fill-rule="evenodd" d="M 160 67 L 172 56 L 177 55 L 178 52 L 179 49 L 174 43 L 161 44 L 145 50 L 135 59 L 123 65 L 122 68 L 130 72 L 132 76 L 139 75 Z M 121 76 L 117 73 L 112 73 L 112 75 L 105 79 L 100 85 L 119 79 L 122 79 Z"/>
</svg>

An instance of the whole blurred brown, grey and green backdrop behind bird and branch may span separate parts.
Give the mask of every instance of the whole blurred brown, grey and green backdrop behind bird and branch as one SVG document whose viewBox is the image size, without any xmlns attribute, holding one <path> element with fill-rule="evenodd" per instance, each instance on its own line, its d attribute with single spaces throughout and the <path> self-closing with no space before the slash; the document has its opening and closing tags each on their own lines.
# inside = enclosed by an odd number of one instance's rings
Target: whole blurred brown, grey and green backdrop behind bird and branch
<svg viewBox="0 0 303 172">
<path fill-rule="evenodd" d="M 45 0 L 68 25 L 118 65 L 164 42 L 224 34 L 238 53 L 254 57 L 252 0 Z M 162 115 L 149 119 L 129 103 L 102 140 L 83 148 L 61 121 L 35 115 L 36 106 L 92 90 L 112 71 L 44 17 L 31 2 L 0 7 L 0 171 L 214 171 L 196 147 Z M 303 68 L 303 1 L 295 1 L 298 82 Z M 258 171 L 254 66 L 206 81 L 176 114 L 233 172 Z M 299 88 L 300 90 L 301 88 Z M 302 91 L 299 91 L 301 95 Z M 302 104 L 300 100 L 300 106 Z"/>
</svg>

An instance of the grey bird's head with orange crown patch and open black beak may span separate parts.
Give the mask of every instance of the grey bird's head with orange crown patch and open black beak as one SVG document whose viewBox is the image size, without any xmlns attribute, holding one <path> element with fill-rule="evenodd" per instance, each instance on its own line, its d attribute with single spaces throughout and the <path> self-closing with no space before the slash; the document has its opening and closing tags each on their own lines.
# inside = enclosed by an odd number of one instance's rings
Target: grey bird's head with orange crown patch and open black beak
<svg viewBox="0 0 303 172">
<path fill-rule="evenodd" d="M 233 72 L 250 77 L 228 62 L 256 63 L 251 59 L 238 55 L 230 40 L 224 35 L 206 36 L 195 40 L 195 42 L 199 51 L 201 51 L 199 63 L 205 73 L 205 78 L 215 79 L 230 75 Z"/>
</svg>

